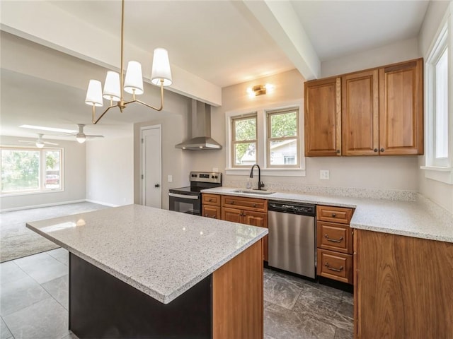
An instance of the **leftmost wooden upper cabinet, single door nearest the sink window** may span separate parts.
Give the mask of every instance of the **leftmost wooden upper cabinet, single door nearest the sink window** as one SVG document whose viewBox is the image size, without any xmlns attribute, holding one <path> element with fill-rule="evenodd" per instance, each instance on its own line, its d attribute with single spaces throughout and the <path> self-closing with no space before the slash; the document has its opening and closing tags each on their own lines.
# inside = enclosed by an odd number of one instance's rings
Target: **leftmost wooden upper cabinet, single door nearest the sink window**
<svg viewBox="0 0 453 339">
<path fill-rule="evenodd" d="M 305 155 L 341 155 L 341 81 L 327 78 L 304 86 Z"/>
</svg>

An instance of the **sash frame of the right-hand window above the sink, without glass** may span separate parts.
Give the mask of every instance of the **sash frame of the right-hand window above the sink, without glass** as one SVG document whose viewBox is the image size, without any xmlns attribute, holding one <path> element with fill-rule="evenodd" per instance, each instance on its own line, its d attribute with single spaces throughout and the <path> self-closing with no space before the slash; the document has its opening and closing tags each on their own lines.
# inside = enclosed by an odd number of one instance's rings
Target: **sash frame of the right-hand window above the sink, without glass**
<svg viewBox="0 0 453 339">
<path fill-rule="evenodd" d="M 287 136 L 287 137 L 280 137 L 280 138 L 273 138 L 272 137 L 272 126 L 270 123 L 270 119 L 273 115 L 277 114 L 285 114 L 285 113 L 291 113 L 297 110 L 296 114 L 296 136 Z M 288 164 L 283 164 L 283 165 L 272 165 L 270 163 L 270 143 L 272 141 L 285 141 L 285 140 L 295 140 L 297 145 L 300 147 L 299 143 L 299 136 L 300 136 L 300 128 L 299 128 L 299 117 L 300 117 L 300 110 L 299 107 L 290 107 L 287 109 L 276 109 L 276 110 L 267 110 L 265 111 L 266 114 L 266 164 L 268 165 L 268 168 L 280 168 L 280 169 L 285 169 L 285 168 L 299 168 L 299 148 L 297 149 L 295 158 L 297 159 L 297 162 L 294 165 L 288 165 Z"/>
</svg>

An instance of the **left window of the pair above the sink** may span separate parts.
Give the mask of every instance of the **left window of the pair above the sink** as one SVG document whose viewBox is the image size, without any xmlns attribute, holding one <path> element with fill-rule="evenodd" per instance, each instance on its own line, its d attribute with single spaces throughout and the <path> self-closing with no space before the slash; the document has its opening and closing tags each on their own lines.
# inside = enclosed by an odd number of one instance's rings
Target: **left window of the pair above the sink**
<svg viewBox="0 0 453 339">
<path fill-rule="evenodd" d="M 256 164 L 256 114 L 231 119 L 233 166 Z"/>
</svg>

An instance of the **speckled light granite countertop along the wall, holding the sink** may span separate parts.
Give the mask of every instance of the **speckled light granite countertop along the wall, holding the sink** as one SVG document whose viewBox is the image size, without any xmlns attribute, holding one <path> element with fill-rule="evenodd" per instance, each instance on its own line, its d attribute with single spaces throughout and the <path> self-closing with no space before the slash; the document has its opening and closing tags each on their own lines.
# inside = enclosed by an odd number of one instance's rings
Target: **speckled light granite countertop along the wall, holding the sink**
<svg viewBox="0 0 453 339">
<path fill-rule="evenodd" d="M 453 242 L 452 215 L 432 201 L 423 198 L 423 196 L 419 196 L 417 201 L 393 201 L 285 192 L 258 195 L 235 193 L 236 190 L 238 188 L 223 186 L 205 189 L 202 190 L 202 193 L 355 208 L 355 213 L 350 222 L 350 226 L 353 228 Z"/>
</svg>

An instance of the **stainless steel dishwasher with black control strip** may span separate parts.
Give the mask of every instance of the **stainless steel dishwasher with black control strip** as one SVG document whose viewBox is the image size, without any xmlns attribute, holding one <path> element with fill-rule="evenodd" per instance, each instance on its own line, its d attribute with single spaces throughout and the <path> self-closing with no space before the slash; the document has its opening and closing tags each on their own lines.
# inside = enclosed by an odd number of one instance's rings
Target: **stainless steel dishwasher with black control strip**
<svg viewBox="0 0 453 339">
<path fill-rule="evenodd" d="M 316 206 L 268 201 L 270 267 L 316 277 Z"/>
</svg>

